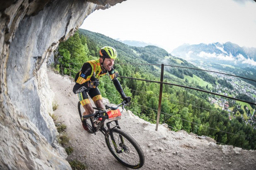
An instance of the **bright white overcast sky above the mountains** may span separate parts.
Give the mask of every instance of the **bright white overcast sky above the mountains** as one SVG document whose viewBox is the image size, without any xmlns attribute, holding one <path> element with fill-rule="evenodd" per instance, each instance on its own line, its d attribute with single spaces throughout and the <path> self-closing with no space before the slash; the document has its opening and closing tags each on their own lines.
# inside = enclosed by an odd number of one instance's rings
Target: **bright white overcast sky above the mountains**
<svg viewBox="0 0 256 170">
<path fill-rule="evenodd" d="M 256 47 L 254 0 L 126 0 L 99 9 L 82 29 L 152 43 L 171 52 L 184 43 Z"/>
</svg>

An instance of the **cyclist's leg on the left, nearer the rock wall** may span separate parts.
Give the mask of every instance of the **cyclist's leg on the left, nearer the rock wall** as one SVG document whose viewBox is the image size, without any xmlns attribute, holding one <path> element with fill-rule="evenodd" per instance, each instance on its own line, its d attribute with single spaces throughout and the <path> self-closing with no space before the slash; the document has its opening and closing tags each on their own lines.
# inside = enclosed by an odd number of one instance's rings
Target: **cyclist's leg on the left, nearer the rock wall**
<svg viewBox="0 0 256 170">
<path fill-rule="evenodd" d="M 78 93 L 78 98 L 79 98 L 79 101 L 80 101 L 81 105 L 85 109 L 85 112 L 82 113 L 82 115 L 85 116 L 85 115 L 93 114 L 94 110 L 92 108 L 92 104 L 89 101 L 87 93 L 86 93 L 85 90 Z"/>
</svg>

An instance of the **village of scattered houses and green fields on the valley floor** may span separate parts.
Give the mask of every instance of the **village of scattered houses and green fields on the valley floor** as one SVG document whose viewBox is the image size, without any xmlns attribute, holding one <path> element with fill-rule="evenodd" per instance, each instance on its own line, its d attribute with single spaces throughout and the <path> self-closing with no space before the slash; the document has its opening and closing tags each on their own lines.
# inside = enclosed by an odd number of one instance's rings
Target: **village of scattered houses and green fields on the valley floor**
<svg viewBox="0 0 256 170">
<path fill-rule="evenodd" d="M 223 87 L 222 85 L 217 84 L 215 87 L 213 87 L 216 93 L 233 98 L 237 98 L 238 94 L 246 94 L 247 96 L 254 99 L 254 101 L 256 101 L 256 87 L 253 85 L 233 76 L 227 76 L 223 74 L 216 75 L 216 73 L 215 76 L 227 80 L 227 82 L 233 86 L 233 90 L 230 90 L 227 87 Z M 208 97 L 208 100 L 211 104 L 214 104 L 216 108 L 219 108 L 222 111 L 227 111 L 229 120 L 241 116 L 242 120 L 246 124 L 249 123 L 254 127 L 254 129 L 256 128 L 256 110 L 254 109 L 255 106 L 253 108 L 248 103 L 239 102 L 220 96 Z"/>
</svg>

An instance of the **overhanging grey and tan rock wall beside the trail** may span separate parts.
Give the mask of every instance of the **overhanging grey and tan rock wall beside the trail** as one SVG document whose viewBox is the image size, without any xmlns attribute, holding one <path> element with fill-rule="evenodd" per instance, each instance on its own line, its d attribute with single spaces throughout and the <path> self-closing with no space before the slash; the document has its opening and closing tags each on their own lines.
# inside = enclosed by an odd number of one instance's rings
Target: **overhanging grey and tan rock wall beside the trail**
<svg viewBox="0 0 256 170">
<path fill-rule="evenodd" d="M 0 169 L 71 169 L 51 144 L 46 59 L 96 9 L 123 0 L 0 2 Z"/>
</svg>

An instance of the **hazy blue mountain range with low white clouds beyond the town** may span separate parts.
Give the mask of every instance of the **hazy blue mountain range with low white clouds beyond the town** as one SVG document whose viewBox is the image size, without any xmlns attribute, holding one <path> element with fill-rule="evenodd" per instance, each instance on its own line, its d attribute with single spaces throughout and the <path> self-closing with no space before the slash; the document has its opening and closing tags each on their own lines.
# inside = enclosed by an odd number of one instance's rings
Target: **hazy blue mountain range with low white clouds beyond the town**
<svg viewBox="0 0 256 170">
<path fill-rule="evenodd" d="M 256 48 L 240 47 L 231 42 L 224 44 L 184 44 L 174 49 L 171 55 L 186 60 L 201 59 L 234 66 L 256 67 Z"/>
</svg>

